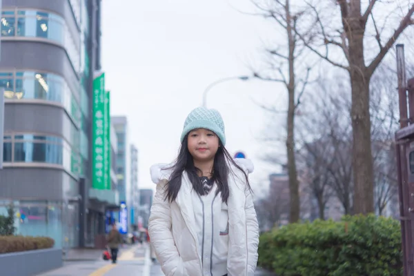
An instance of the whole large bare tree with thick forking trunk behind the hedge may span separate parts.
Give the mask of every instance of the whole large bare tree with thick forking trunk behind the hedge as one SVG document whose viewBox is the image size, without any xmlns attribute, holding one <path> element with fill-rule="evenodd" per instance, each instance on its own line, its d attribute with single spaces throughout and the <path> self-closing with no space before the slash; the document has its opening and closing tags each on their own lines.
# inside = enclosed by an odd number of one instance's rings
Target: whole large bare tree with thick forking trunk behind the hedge
<svg viewBox="0 0 414 276">
<path fill-rule="evenodd" d="M 400 12 L 400 23 L 395 30 L 387 33 L 384 30 L 392 24 L 391 20 L 387 20 L 389 15 L 382 17 L 382 26 L 379 24 L 379 17 L 384 14 L 382 11 L 393 9 L 388 1 L 370 0 L 368 3 L 365 2 L 364 9 L 364 1 L 361 0 L 315 2 L 315 5 L 306 2 L 313 10 L 312 22 L 304 21 L 302 28 L 295 30 L 299 30 L 299 38 L 318 57 L 348 72 L 352 103 L 354 211 L 363 214 L 373 213 L 370 82 L 388 50 L 404 30 L 413 24 L 411 17 L 414 13 L 414 4 L 405 1 L 406 7 L 398 6 L 392 10 L 390 15 Z M 381 7 L 381 4 L 384 6 Z M 337 19 L 333 19 L 335 15 L 338 15 Z M 376 50 L 368 49 L 369 43 L 366 43 L 370 30 L 374 31 Z M 338 50 L 342 52 L 342 56 L 338 55 Z"/>
</svg>

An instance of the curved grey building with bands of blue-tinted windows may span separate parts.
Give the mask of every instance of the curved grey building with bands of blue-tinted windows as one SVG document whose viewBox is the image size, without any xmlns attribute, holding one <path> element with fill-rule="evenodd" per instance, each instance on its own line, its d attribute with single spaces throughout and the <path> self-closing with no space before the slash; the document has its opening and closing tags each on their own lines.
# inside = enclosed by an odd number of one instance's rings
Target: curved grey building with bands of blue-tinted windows
<svg viewBox="0 0 414 276">
<path fill-rule="evenodd" d="M 100 5 L 3 0 L 1 10 L 0 205 L 16 206 L 17 234 L 47 235 L 62 248 L 93 244 L 106 206 L 115 204 L 88 193 Z"/>
</svg>

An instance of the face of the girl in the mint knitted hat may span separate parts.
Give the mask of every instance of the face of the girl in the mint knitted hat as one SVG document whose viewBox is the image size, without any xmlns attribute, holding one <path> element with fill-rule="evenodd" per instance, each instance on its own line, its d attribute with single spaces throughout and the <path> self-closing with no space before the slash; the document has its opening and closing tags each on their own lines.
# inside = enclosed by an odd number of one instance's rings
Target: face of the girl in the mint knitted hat
<svg viewBox="0 0 414 276">
<path fill-rule="evenodd" d="M 210 161 L 219 149 L 219 137 L 211 130 L 197 128 L 188 134 L 187 146 L 195 160 Z"/>
</svg>

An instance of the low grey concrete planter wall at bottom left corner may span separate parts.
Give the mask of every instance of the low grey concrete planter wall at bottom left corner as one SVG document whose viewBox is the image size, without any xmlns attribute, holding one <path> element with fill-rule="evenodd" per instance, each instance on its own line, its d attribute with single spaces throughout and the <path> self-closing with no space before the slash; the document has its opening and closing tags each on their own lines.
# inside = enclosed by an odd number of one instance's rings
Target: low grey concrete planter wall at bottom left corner
<svg viewBox="0 0 414 276">
<path fill-rule="evenodd" d="M 61 249 L 0 254 L 1 275 L 31 276 L 63 266 Z"/>
</svg>

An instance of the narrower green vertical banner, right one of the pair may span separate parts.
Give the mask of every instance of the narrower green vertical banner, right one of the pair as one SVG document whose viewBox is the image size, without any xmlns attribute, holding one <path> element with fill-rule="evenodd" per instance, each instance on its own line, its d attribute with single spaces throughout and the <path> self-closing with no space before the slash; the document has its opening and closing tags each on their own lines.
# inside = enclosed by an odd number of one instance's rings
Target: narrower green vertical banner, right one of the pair
<svg viewBox="0 0 414 276">
<path fill-rule="evenodd" d="M 105 92 L 105 119 L 103 123 L 103 132 L 105 133 L 104 149 L 103 149 L 103 168 L 105 188 L 110 190 L 110 92 Z"/>
</svg>

